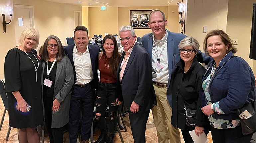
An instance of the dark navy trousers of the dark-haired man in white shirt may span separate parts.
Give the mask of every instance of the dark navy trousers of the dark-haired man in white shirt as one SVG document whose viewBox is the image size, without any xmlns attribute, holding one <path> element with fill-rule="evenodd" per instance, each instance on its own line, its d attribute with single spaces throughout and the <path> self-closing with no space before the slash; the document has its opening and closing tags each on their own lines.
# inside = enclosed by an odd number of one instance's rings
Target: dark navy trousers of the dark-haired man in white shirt
<svg viewBox="0 0 256 143">
<path fill-rule="evenodd" d="M 69 142 L 76 143 L 78 137 L 78 123 L 80 110 L 82 110 L 81 140 L 90 138 L 90 131 L 93 119 L 94 97 L 91 86 L 74 86 L 75 95 L 71 95 L 69 111 Z"/>
</svg>

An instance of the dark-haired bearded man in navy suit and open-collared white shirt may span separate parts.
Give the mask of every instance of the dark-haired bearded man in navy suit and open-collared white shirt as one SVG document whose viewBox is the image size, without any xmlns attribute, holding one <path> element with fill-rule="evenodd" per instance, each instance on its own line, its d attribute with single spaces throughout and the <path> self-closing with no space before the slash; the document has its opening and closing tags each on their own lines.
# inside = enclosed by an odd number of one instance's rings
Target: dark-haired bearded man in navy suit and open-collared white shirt
<svg viewBox="0 0 256 143">
<path fill-rule="evenodd" d="M 75 44 L 64 46 L 74 70 L 75 83 L 72 88 L 69 111 L 69 141 L 76 143 L 78 137 L 79 113 L 82 109 L 81 140 L 89 143 L 93 119 L 95 89 L 98 87 L 98 53 L 97 45 L 88 45 L 88 30 L 77 26 L 74 31 Z"/>
</svg>

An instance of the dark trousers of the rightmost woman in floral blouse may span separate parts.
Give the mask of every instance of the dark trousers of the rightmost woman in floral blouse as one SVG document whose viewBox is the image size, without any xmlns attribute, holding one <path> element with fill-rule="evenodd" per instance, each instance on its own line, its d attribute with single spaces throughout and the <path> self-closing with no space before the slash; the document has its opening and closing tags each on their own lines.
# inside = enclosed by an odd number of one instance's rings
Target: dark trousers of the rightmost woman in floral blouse
<svg viewBox="0 0 256 143">
<path fill-rule="evenodd" d="M 252 134 L 244 136 L 241 125 L 229 129 L 211 127 L 211 136 L 214 143 L 250 143 Z"/>
</svg>

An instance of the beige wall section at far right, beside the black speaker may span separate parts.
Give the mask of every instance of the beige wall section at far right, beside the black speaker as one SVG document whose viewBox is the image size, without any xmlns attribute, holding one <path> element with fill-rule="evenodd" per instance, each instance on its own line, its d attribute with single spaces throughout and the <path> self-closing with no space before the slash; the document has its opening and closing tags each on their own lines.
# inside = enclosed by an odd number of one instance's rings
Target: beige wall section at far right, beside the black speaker
<svg viewBox="0 0 256 143">
<path fill-rule="evenodd" d="M 229 0 L 227 34 L 231 39 L 238 39 L 238 45 L 235 45 L 238 51 L 235 55 L 245 59 L 256 74 L 256 62 L 249 58 L 253 3 L 256 0 Z"/>
</svg>

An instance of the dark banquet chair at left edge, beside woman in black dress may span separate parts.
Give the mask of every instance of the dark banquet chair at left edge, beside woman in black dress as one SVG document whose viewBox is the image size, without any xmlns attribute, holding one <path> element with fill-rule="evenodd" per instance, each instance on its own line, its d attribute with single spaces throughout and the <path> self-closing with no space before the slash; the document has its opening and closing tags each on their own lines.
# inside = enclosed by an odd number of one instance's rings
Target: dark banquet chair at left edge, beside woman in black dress
<svg viewBox="0 0 256 143">
<path fill-rule="evenodd" d="M 5 83 L 4 83 L 3 80 L 0 80 L 0 94 L 1 94 L 1 97 L 2 97 L 2 100 L 3 100 L 3 103 L 4 103 L 4 108 L 5 108 L 3 116 L 2 116 L 1 124 L 0 124 L 0 130 L 1 130 L 3 122 L 4 122 L 4 116 L 5 116 L 6 110 L 9 111 L 9 108 L 8 108 L 8 95 L 10 96 L 12 94 L 10 92 L 8 92 L 8 93 L 5 92 Z M 9 139 L 11 128 L 12 127 L 9 126 L 8 132 L 7 132 L 7 135 L 6 135 L 6 138 L 5 138 L 5 141 L 8 141 L 8 139 Z"/>
</svg>

